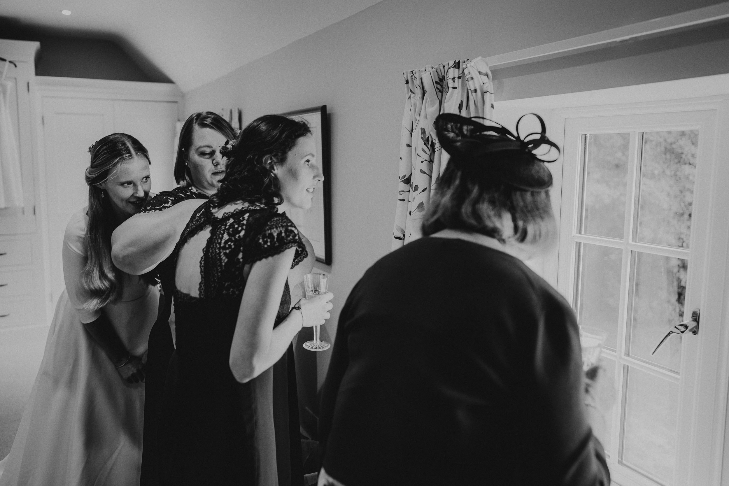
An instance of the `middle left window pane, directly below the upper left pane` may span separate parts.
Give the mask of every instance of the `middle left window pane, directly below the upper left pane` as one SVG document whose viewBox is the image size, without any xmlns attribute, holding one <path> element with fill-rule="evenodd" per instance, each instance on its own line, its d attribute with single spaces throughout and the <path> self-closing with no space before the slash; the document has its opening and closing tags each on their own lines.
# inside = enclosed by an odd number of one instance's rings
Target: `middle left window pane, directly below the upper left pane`
<svg viewBox="0 0 729 486">
<path fill-rule="evenodd" d="M 607 332 L 605 346 L 617 348 L 620 315 L 620 266 L 623 250 L 580 243 L 580 326 L 595 326 Z"/>
</svg>

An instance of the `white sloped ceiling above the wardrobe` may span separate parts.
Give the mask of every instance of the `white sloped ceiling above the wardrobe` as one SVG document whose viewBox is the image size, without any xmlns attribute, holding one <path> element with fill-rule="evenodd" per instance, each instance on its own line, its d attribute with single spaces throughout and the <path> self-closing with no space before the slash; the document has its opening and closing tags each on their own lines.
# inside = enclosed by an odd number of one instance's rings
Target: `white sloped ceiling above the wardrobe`
<svg viewBox="0 0 729 486">
<path fill-rule="evenodd" d="M 187 92 L 378 1 L 2 0 L 0 17 L 54 34 L 112 39 L 142 68 L 161 71 Z M 284 68 L 281 75 L 295 77 Z"/>
</svg>

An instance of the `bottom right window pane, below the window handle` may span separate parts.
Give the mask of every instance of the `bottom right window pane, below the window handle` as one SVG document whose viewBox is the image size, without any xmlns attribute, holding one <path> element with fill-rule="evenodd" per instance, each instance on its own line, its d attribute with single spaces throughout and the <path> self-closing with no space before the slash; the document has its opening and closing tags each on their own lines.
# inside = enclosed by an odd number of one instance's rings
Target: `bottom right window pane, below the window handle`
<svg viewBox="0 0 729 486">
<path fill-rule="evenodd" d="M 679 385 L 630 367 L 627 393 L 623 461 L 671 484 Z"/>
</svg>

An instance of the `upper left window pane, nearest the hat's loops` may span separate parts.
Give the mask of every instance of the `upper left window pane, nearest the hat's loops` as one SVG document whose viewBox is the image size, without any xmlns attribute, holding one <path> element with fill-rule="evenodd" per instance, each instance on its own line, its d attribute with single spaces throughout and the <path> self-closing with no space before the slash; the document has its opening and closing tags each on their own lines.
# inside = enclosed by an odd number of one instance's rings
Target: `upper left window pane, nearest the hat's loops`
<svg viewBox="0 0 729 486">
<path fill-rule="evenodd" d="M 585 136 L 582 233 L 623 238 L 630 133 Z"/>
</svg>

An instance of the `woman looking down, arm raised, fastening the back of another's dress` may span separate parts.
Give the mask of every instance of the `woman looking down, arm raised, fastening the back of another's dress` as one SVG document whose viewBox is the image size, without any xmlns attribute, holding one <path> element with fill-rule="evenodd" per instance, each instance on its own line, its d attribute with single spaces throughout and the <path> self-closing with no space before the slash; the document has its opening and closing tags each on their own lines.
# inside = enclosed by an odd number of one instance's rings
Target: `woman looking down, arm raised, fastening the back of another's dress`
<svg viewBox="0 0 729 486">
<path fill-rule="evenodd" d="M 157 422 L 161 409 L 167 367 L 174 352 L 168 319 L 172 305 L 174 267 L 168 258 L 192 211 L 217 192 L 225 176 L 227 160 L 220 146 L 235 138 L 230 123 L 211 111 L 193 113 L 182 125 L 175 160 L 174 175 L 179 187 L 152 197 L 139 212 L 141 216 L 120 226 L 112 237 L 112 258 L 117 267 L 138 275 L 154 272 L 162 282 L 168 298 L 152 331 L 147 353 L 147 384 L 144 399 L 144 447 L 142 450 L 141 486 L 156 486 Z M 190 201 L 171 211 L 173 206 Z M 160 223 L 177 225 L 175 231 L 160 230 Z M 160 261 L 161 260 L 161 261 Z"/>
</svg>

